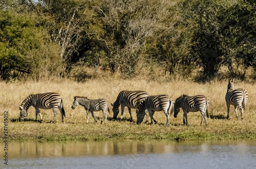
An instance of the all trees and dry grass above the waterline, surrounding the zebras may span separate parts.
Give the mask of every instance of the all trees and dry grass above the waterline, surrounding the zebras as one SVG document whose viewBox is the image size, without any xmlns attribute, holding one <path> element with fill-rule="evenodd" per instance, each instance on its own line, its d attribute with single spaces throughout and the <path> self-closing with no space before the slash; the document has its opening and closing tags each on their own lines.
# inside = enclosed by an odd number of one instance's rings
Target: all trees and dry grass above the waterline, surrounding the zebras
<svg viewBox="0 0 256 169">
<path fill-rule="evenodd" d="M 9 139 L 256 139 L 255 24 L 251 0 L 1 1 L 0 111 L 9 112 Z M 249 94 L 244 120 L 232 106 L 226 119 L 229 77 Z M 86 124 L 84 108 L 71 109 L 74 96 L 104 98 L 110 106 L 122 90 L 174 100 L 205 95 L 208 127 L 200 126 L 200 112 L 189 112 L 184 126 L 181 110 L 167 127 L 163 112 L 154 115 L 158 124 L 136 125 L 125 108 L 123 121 L 112 121 L 111 111 L 100 125 L 101 111 L 94 113 L 97 123 L 90 115 Z M 62 95 L 65 122 L 58 111 L 49 123 L 52 109 L 41 110 L 43 123 L 34 122 L 33 107 L 19 122 L 22 101 L 45 92 Z M 132 115 L 136 120 L 135 109 Z"/>
</svg>

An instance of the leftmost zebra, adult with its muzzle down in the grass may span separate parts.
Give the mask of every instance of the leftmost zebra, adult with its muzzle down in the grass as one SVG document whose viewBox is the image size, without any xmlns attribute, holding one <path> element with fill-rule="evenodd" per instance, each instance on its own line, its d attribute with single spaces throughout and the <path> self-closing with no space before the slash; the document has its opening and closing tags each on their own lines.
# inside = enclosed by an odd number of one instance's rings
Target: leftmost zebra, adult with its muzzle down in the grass
<svg viewBox="0 0 256 169">
<path fill-rule="evenodd" d="M 63 122 L 63 116 L 65 117 L 65 110 L 63 108 L 62 97 L 58 93 L 41 93 L 35 95 L 29 95 L 19 106 L 20 120 L 23 121 L 28 116 L 28 109 L 30 106 L 35 108 L 35 121 L 37 120 L 37 114 L 39 115 L 41 122 L 42 116 L 39 108 L 50 109 L 52 108 L 54 117 L 52 122 L 55 121 L 57 116 L 57 107 L 61 113 L 61 121 Z"/>
</svg>

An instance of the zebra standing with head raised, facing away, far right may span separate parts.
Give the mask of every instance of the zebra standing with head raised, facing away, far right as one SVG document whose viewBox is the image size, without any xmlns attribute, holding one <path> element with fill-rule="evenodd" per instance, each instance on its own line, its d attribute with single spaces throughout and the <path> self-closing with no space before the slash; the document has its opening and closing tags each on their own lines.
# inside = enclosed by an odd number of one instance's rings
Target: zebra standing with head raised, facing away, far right
<svg viewBox="0 0 256 169">
<path fill-rule="evenodd" d="M 225 97 L 227 104 L 227 119 L 229 118 L 229 107 L 230 104 L 234 106 L 234 112 L 238 118 L 237 106 L 241 111 L 241 119 L 243 120 L 243 114 L 245 109 L 245 104 L 248 100 L 248 93 L 244 89 L 234 88 L 234 79 L 229 79 L 227 85 L 227 94 Z"/>
</svg>

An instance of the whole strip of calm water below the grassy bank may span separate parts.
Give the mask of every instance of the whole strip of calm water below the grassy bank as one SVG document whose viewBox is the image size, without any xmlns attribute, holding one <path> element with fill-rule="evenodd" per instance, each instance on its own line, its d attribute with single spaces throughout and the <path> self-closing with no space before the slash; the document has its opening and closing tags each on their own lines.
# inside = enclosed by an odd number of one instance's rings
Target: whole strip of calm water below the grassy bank
<svg viewBox="0 0 256 169">
<path fill-rule="evenodd" d="M 2 160 L 1 168 L 256 168 L 256 140 L 14 142 L 8 147 L 8 167 Z"/>
</svg>

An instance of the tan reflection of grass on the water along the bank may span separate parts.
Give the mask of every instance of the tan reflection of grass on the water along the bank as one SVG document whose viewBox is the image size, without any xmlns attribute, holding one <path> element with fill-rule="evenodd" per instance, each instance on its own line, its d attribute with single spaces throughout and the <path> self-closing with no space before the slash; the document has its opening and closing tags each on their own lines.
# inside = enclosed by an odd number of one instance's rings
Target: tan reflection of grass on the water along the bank
<svg viewBox="0 0 256 169">
<path fill-rule="evenodd" d="M 4 146 L 3 143 L 0 146 Z M 209 149 L 210 146 L 210 149 Z M 151 153 L 208 153 L 220 151 L 230 152 L 236 147 L 236 153 L 245 154 L 250 146 L 256 146 L 254 140 L 224 140 L 209 142 L 170 142 L 168 140 L 122 140 L 108 142 L 11 142 L 9 154 L 11 158 L 37 158 L 60 156 L 108 156 Z M 0 149 L 3 154 L 4 151 Z"/>
</svg>

